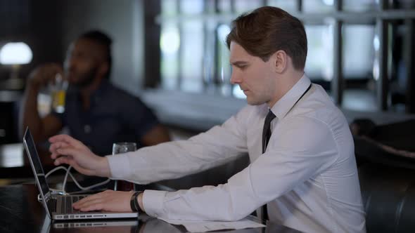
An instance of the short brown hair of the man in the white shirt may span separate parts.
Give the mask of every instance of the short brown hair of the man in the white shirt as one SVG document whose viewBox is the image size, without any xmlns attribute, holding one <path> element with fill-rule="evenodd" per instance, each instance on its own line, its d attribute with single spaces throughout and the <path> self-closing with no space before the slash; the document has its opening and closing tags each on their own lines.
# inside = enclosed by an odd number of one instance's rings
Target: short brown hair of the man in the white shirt
<svg viewBox="0 0 415 233">
<path fill-rule="evenodd" d="M 239 16 L 232 22 L 232 30 L 226 37 L 228 48 L 231 41 L 264 62 L 276 51 L 285 51 L 295 69 L 304 69 L 307 57 L 304 25 L 281 8 L 264 6 Z"/>
</svg>

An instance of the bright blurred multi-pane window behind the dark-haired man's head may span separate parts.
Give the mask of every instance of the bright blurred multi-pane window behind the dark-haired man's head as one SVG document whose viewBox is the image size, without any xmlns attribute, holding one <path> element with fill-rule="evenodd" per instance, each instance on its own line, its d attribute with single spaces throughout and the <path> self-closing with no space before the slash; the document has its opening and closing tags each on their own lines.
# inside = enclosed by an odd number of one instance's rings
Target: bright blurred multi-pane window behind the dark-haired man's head
<svg viewBox="0 0 415 233">
<path fill-rule="evenodd" d="M 245 98 L 238 86 L 230 84 L 231 67 L 226 34 L 230 31 L 231 20 L 243 12 L 269 5 L 281 7 L 300 18 L 305 24 L 308 39 L 308 55 L 305 72 L 317 84 L 322 84 L 329 94 L 358 88 L 368 93 L 371 105 L 383 102 L 388 92 L 377 95 L 378 76 L 402 73 L 402 54 L 392 49 L 398 45 L 395 36 L 402 36 L 402 21 L 415 15 L 412 1 L 378 0 L 160 0 L 161 12 L 161 79 L 162 88 L 192 93 L 208 93 L 235 98 Z M 300 5 L 298 5 L 300 4 Z M 383 9 L 381 4 L 388 4 Z M 402 9 L 404 14 L 388 9 Z M 386 23 L 385 32 L 376 30 L 380 23 Z M 413 27 L 413 26 L 411 26 Z M 386 33 L 387 36 L 379 36 Z M 385 41 L 385 38 L 389 38 Z M 337 43 L 340 41 L 340 43 Z M 385 42 L 384 44 L 382 42 Z M 409 43 L 410 44 L 410 43 Z M 377 46 L 382 46 L 376 50 Z M 402 53 L 402 52 L 400 52 Z M 388 72 L 382 67 L 380 54 L 388 56 L 392 65 Z M 340 69 L 338 67 L 340 61 Z M 402 65 L 403 64 L 403 65 Z M 395 76 L 402 76 L 396 74 Z M 343 79 L 343 86 L 333 86 L 333 79 Z M 402 86 L 400 84 L 400 86 Z M 337 89 L 338 90 L 337 90 Z M 384 92 L 384 91 L 383 91 Z M 341 98 L 333 94 L 336 103 Z M 376 100 L 376 96 L 383 96 Z M 376 100 L 376 101 L 375 101 Z M 378 104 L 378 103 L 377 103 Z M 347 105 L 352 106 L 352 105 Z M 357 109 L 361 108 L 360 106 Z"/>
</svg>

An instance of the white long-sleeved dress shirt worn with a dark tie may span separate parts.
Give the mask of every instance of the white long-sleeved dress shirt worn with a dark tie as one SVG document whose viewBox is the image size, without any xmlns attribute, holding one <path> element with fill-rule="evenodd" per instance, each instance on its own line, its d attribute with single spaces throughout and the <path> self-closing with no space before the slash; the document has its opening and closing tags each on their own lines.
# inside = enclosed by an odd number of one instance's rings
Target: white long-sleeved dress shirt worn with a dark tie
<svg viewBox="0 0 415 233">
<path fill-rule="evenodd" d="M 269 220 L 303 232 L 365 232 L 355 147 L 347 121 L 321 86 L 300 81 L 272 107 L 247 106 L 189 140 L 108 156 L 112 178 L 141 184 L 179 178 L 248 152 L 250 165 L 218 186 L 146 190 L 148 215 L 175 220 L 239 220 L 267 204 Z"/>
</svg>

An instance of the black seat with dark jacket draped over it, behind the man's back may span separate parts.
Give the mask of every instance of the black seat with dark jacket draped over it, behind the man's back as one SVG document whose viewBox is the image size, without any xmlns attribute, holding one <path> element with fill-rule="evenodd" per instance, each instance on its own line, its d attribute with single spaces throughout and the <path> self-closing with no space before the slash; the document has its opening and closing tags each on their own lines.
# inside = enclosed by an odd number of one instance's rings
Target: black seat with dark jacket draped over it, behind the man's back
<svg viewBox="0 0 415 233">
<path fill-rule="evenodd" d="M 351 124 L 368 233 L 415 232 L 414 127 L 415 119 Z"/>
</svg>

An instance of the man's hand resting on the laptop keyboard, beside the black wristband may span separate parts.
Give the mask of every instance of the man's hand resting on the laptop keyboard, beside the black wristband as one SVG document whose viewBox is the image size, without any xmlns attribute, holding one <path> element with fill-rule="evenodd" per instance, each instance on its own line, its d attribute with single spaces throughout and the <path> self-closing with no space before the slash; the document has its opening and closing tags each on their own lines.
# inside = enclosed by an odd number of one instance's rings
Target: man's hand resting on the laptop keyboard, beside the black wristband
<svg viewBox="0 0 415 233">
<path fill-rule="evenodd" d="M 134 192 L 122 192 L 106 190 L 94 194 L 73 204 L 73 208 L 79 211 L 122 211 L 132 212 L 129 201 Z"/>
</svg>

